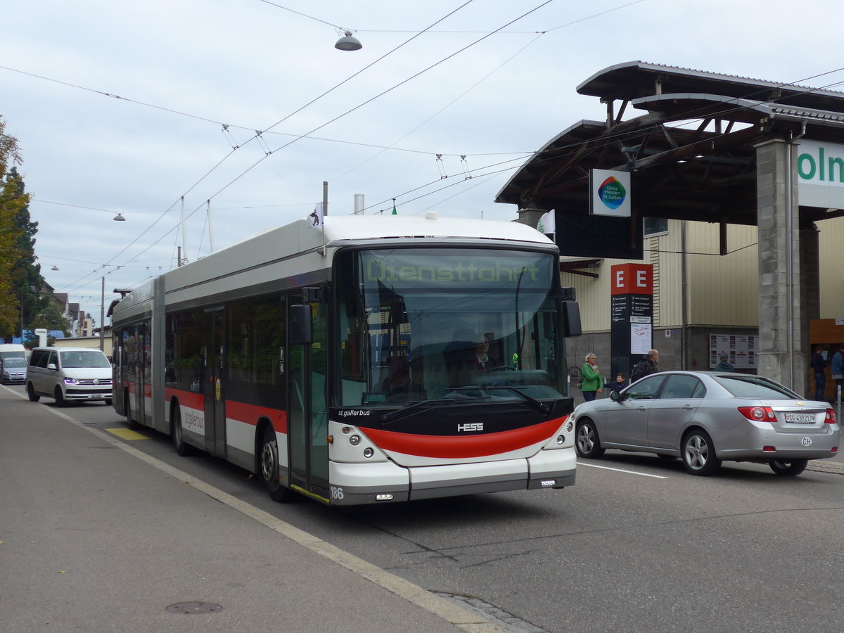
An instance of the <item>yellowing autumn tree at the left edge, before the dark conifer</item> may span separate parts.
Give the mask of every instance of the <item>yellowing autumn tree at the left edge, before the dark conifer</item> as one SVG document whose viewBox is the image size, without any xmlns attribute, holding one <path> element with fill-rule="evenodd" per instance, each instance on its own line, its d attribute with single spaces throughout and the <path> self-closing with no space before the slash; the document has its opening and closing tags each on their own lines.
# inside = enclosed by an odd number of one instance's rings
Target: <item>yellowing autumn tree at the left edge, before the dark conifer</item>
<svg viewBox="0 0 844 633">
<path fill-rule="evenodd" d="M 0 337 L 7 340 L 20 322 L 20 302 L 13 271 L 23 256 L 19 250 L 18 217 L 30 203 L 30 196 L 23 192 L 23 181 L 14 168 L 21 162 L 18 139 L 6 133 L 6 122 L 0 117 Z M 26 215 L 29 215 L 28 211 Z"/>
</svg>

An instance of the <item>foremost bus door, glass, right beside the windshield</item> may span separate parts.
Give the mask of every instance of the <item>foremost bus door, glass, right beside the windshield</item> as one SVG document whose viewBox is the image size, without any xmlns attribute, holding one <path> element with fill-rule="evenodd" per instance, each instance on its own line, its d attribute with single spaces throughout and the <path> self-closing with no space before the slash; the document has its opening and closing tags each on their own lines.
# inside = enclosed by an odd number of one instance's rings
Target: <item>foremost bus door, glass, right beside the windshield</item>
<svg viewBox="0 0 844 633">
<path fill-rule="evenodd" d="M 291 341 L 289 345 L 290 482 L 328 500 L 327 310 L 322 303 L 313 303 L 311 308 L 311 343 L 294 344 Z"/>
</svg>

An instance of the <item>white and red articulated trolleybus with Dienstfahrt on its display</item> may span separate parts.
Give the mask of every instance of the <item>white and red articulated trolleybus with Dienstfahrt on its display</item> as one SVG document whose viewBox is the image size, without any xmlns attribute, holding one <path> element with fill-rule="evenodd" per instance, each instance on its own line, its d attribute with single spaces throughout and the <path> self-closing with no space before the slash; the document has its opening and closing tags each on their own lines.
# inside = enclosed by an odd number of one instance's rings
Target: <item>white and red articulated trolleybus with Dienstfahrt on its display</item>
<svg viewBox="0 0 844 633">
<path fill-rule="evenodd" d="M 512 222 L 306 220 L 111 307 L 114 406 L 333 505 L 575 483 L 556 246 Z"/>
</svg>

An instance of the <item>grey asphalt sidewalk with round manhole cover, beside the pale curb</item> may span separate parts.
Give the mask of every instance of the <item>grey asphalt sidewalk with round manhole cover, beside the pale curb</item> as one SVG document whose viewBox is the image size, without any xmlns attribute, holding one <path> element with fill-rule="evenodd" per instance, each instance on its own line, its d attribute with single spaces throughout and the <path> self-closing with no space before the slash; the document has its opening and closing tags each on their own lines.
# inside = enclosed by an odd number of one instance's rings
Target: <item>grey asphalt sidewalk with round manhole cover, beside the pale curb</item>
<svg viewBox="0 0 844 633">
<path fill-rule="evenodd" d="M 0 434 L 4 631 L 506 630 L 82 425 L 73 408 L 0 387 Z"/>
</svg>

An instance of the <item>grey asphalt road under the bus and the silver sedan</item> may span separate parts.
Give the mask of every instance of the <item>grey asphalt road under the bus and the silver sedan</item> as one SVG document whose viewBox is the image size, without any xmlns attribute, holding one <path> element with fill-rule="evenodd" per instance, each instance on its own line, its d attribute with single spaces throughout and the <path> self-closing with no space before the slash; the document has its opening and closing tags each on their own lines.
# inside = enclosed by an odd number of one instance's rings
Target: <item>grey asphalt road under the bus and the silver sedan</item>
<svg viewBox="0 0 844 633">
<path fill-rule="evenodd" d="M 101 404 L 62 411 L 125 428 Z M 245 471 L 143 434 L 135 448 L 514 630 L 844 630 L 841 457 L 796 478 L 746 463 L 700 478 L 608 452 L 570 489 L 344 509 L 274 503 Z"/>
</svg>

